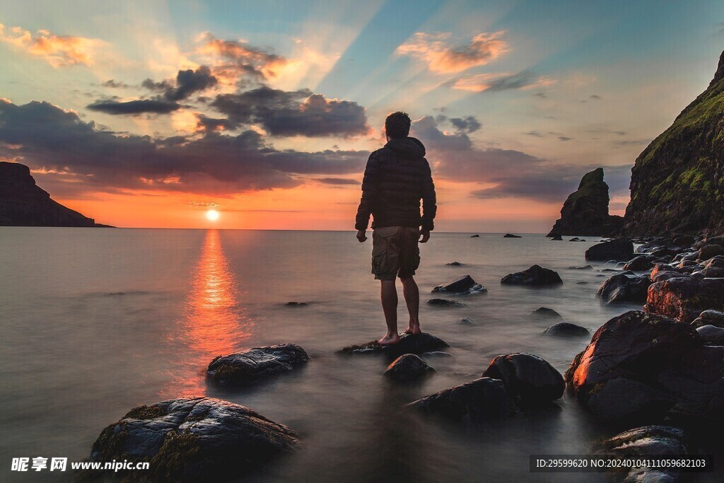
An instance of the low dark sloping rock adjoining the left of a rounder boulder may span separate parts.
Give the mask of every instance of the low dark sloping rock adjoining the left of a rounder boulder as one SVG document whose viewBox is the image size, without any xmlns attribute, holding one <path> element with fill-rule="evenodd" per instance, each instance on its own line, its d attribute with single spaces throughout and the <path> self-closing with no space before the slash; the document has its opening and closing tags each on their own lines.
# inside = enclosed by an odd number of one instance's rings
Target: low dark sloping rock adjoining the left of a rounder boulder
<svg viewBox="0 0 724 483">
<path fill-rule="evenodd" d="M 517 412 L 502 381 L 489 377 L 436 392 L 407 406 L 455 421 L 476 424 L 491 419 L 506 419 Z"/>
</svg>

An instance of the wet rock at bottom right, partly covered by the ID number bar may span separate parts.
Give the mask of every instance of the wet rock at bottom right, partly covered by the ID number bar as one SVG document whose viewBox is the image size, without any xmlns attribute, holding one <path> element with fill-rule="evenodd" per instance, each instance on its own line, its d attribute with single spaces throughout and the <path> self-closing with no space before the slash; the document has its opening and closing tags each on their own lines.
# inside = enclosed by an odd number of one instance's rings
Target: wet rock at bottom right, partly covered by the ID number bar
<svg viewBox="0 0 724 483">
<path fill-rule="evenodd" d="M 602 442 L 599 453 L 630 458 L 686 455 L 684 432 L 670 426 L 644 426 L 629 429 Z M 675 482 L 678 471 L 667 468 L 642 467 L 628 471 L 627 482 Z"/>
</svg>

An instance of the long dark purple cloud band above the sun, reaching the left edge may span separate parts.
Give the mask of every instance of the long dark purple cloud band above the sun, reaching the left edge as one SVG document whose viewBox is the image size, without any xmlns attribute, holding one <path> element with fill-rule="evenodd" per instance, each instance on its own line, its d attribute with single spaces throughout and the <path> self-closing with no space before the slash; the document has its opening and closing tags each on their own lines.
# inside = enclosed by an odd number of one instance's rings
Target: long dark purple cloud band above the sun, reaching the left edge
<svg viewBox="0 0 724 483">
<path fill-rule="evenodd" d="M 174 137 L 177 138 L 177 137 Z M 97 130 L 47 102 L 0 101 L 0 156 L 83 177 L 77 190 L 150 188 L 219 196 L 289 188 L 303 175 L 361 172 L 365 151 L 279 151 L 254 131 L 184 142 Z"/>
</svg>

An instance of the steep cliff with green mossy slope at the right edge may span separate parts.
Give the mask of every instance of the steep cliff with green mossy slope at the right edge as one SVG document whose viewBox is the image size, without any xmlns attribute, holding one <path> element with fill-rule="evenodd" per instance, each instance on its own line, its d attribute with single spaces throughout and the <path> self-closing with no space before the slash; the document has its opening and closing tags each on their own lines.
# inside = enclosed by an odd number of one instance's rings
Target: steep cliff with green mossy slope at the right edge
<svg viewBox="0 0 724 483">
<path fill-rule="evenodd" d="M 709 87 L 636 159 L 624 232 L 724 233 L 724 53 Z"/>
</svg>

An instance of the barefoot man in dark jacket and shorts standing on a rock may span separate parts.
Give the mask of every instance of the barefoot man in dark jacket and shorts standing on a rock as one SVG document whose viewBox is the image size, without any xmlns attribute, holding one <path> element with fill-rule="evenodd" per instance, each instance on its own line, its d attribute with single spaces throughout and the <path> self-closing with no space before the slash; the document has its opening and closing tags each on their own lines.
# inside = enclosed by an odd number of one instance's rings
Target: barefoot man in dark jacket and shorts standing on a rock
<svg viewBox="0 0 724 483">
<path fill-rule="evenodd" d="M 429 240 L 437 210 L 425 146 L 409 137 L 410 125 L 410 117 L 404 112 L 395 112 L 385 119 L 387 144 L 369 156 L 355 219 L 357 239 L 362 243 L 367 240 L 370 214 L 373 217 L 372 273 L 382 284 L 382 310 L 387 322 L 387 334 L 379 340 L 382 345 L 400 342 L 396 277 L 403 282 L 410 313 L 410 327 L 405 333 L 420 333 L 420 292 L 413 275 L 420 265 L 418 241 Z"/>
</svg>

